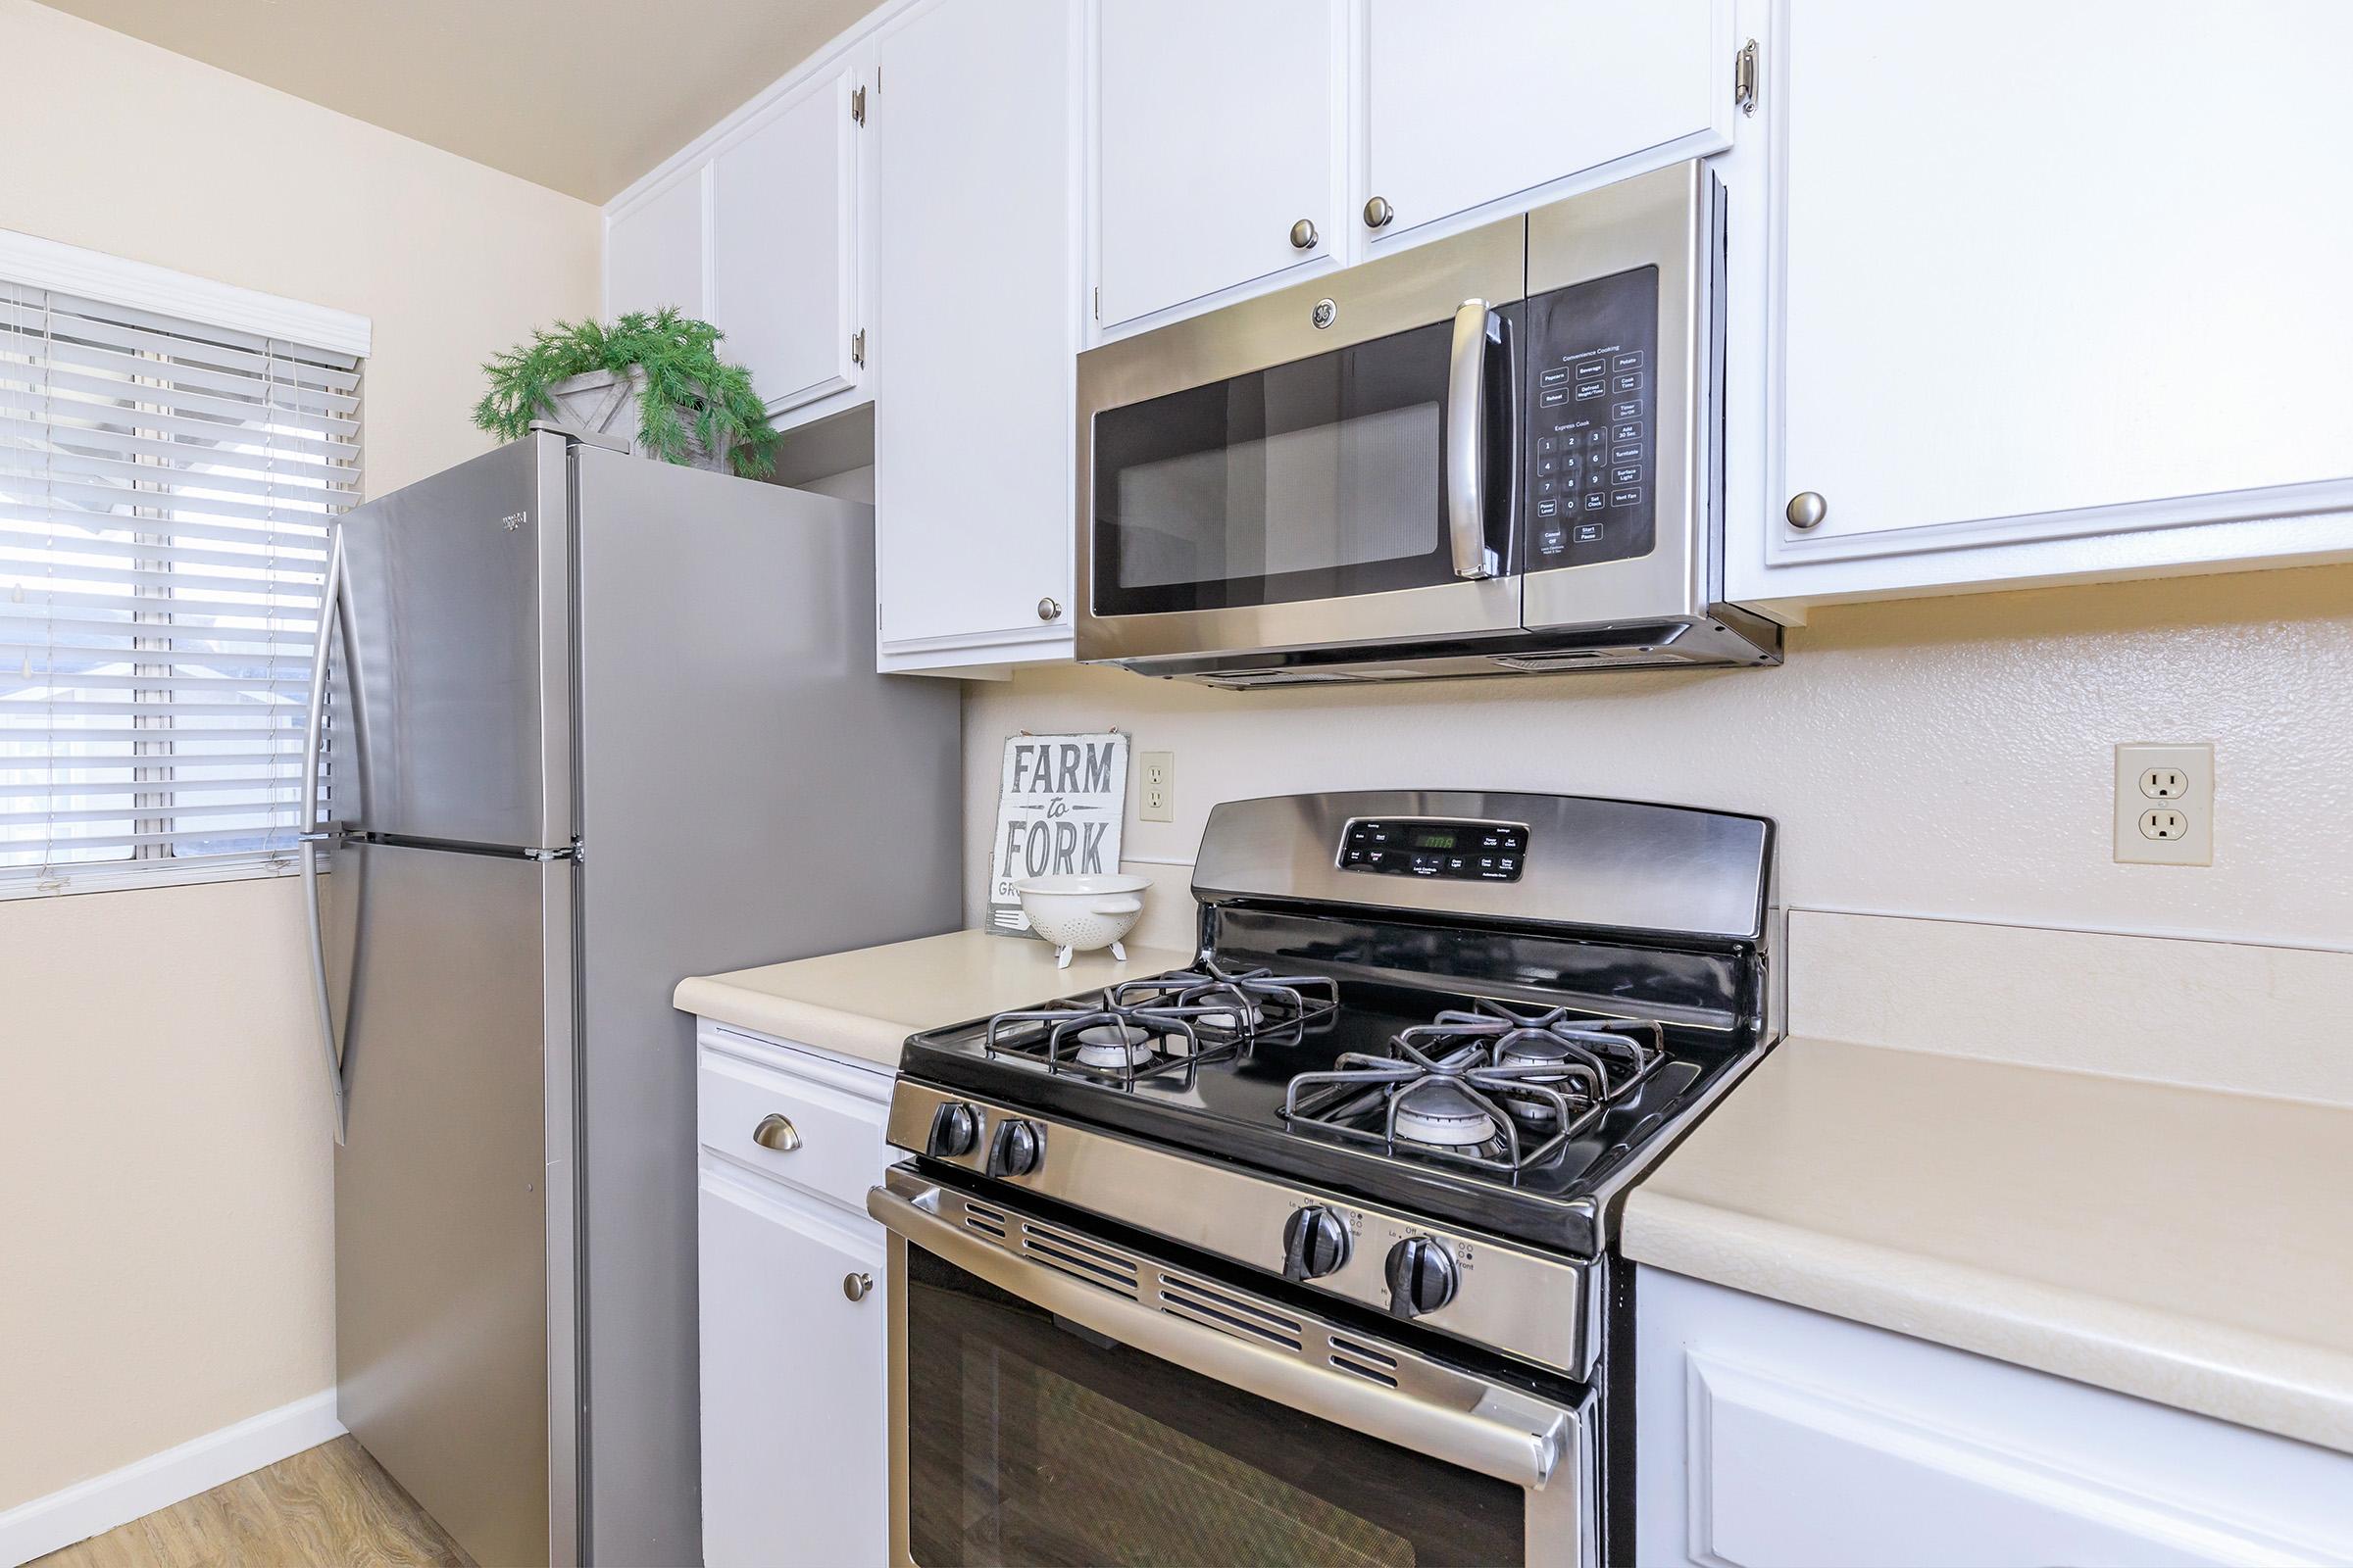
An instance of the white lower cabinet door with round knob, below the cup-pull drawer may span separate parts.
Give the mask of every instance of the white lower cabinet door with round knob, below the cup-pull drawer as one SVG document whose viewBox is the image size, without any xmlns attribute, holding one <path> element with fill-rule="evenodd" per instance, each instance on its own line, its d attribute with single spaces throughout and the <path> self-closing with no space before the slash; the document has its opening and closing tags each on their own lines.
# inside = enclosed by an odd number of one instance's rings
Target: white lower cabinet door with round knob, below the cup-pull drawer
<svg viewBox="0 0 2353 1568">
<path fill-rule="evenodd" d="M 704 1561 L 880 1563 L 889 1549 L 882 1229 L 701 1180 Z M 864 1300 L 842 1281 L 873 1279 Z"/>
</svg>

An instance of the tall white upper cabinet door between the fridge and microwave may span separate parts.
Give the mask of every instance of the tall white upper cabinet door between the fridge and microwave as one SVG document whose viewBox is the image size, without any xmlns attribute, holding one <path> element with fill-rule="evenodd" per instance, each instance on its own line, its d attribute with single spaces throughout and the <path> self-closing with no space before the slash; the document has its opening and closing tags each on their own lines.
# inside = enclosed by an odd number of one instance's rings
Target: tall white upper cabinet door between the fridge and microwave
<svg viewBox="0 0 2353 1568">
<path fill-rule="evenodd" d="M 880 639 L 1045 632 L 1066 654 L 1075 7 L 939 0 L 878 49 L 875 294 L 896 364 L 875 402 Z"/>
</svg>

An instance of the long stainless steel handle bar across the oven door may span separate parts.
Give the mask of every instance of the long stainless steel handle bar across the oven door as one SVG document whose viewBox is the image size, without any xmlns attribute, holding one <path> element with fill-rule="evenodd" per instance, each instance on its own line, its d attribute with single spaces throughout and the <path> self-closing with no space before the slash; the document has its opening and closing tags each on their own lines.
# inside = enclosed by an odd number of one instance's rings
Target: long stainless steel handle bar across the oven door
<svg viewBox="0 0 2353 1568">
<path fill-rule="evenodd" d="M 1577 1410 L 1457 1368 L 1431 1368 L 1442 1378 L 1440 1394 L 1440 1389 L 1384 1387 L 1334 1371 L 1322 1361 L 1308 1361 L 1297 1352 L 1254 1345 L 1056 1269 L 1024 1262 L 993 1241 L 939 1218 L 934 1213 L 939 1187 L 918 1185 L 901 1173 L 892 1173 L 892 1185 L 906 1185 L 915 1192 L 901 1197 L 889 1187 L 873 1187 L 866 1194 L 866 1213 L 927 1253 L 1059 1319 L 1111 1335 L 1245 1394 L 1273 1399 L 1337 1427 L 1377 1436 L 1442 1465 L 1508 1481 L 1522 1490 L 1544 1488 L 1562 1469 L 1577 1474 L 1574 1455 L 1581 1446 Z M 894 1279 L 892 1291 L 901 1293 L 904 1284 L 904 1279 Z M 1151 1284 L 1158 1288 L 1158 1281 Z M 1301 1316 L 1289 1307 L 1285 1312 Z M 1315 1324 L 1315 1319 L 1304 1321 Z"/>
</svg>

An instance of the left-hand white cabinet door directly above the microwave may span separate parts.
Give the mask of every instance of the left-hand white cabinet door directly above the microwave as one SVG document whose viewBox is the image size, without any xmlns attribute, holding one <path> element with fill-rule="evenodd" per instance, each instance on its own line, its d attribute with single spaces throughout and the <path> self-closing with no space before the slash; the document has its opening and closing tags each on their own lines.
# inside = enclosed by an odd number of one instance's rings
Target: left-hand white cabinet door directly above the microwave
<svg viewBox="0 0 2353 1568">
<path fill-rule="evenodd" d="M 1106 327 L 1339 254 L 1344 40 L 1339 0 L 1096 0 Z"/>
</svg>

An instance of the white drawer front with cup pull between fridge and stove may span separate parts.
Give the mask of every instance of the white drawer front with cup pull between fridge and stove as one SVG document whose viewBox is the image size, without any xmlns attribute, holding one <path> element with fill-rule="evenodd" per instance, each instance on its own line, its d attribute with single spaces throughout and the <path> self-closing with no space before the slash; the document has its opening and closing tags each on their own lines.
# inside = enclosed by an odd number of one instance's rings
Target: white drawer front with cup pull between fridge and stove
<svg viewBox="0 0 2353 1568">
<path fill-rule="evenodd" d="M 887 1093 L 887 1079 L 882 1081 Z M 795 1150 L 772 1150 L 753 1133 L 767 1117 L 784 1117 L 800 1135 Z M 889 1105 L 819 1084 L 762 1063 L 704 1051 L 696 1126 L 713 1154 L 774 1175 L 802 1192 L 866 1213 L 866 1190 L 882 1178 L 889 1150 L 882 1124 Z"/>
</svg>

